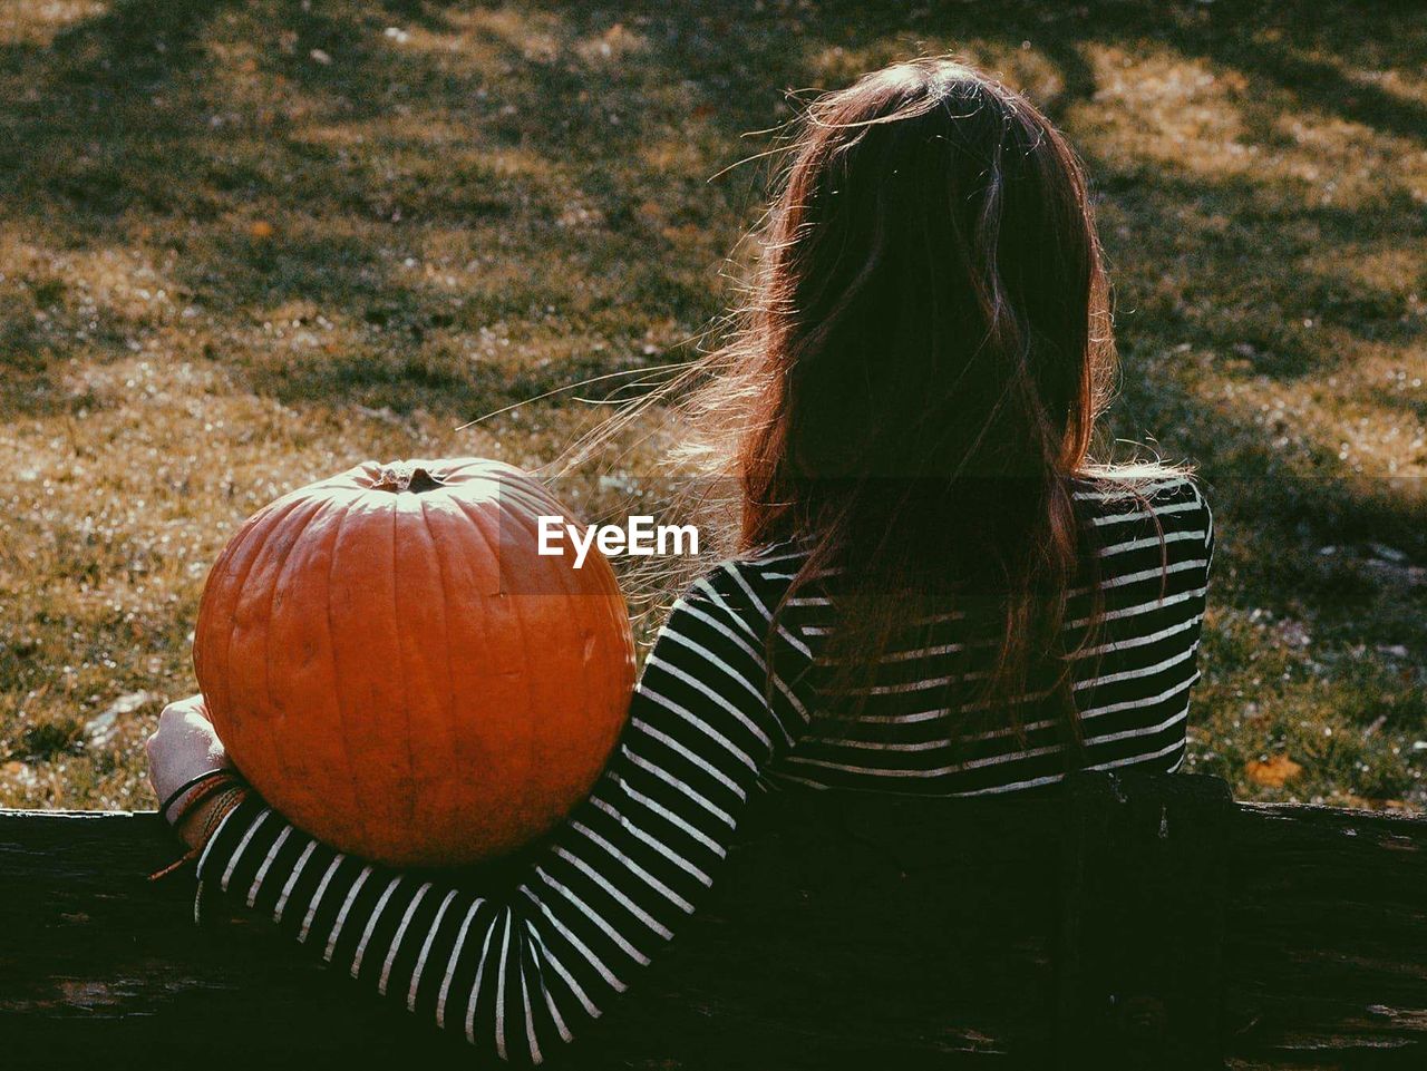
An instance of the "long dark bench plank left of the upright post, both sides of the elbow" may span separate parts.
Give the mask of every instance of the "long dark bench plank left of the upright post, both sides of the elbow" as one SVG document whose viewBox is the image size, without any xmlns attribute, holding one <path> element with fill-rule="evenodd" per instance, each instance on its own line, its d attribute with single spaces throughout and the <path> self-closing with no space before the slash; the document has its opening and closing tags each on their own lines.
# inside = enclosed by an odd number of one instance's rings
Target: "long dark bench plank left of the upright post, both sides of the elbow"
<svg viewBox="0 0 1427 1071">
<path fill-rule="evenodd" d="M 778 803 L 571 1065 L 985 1067 L 1049 1047 L 1055 883 L 1022 876 L 1055 857 L 1052 801 L 950 803 L 933 821 L 912 800 Z M 255 918 L 195 931 L 191 883 L 146 880 L 173 854 L 153 816 L 0 813 L 7 1054 L 469 1065 Z"/>
</svg>

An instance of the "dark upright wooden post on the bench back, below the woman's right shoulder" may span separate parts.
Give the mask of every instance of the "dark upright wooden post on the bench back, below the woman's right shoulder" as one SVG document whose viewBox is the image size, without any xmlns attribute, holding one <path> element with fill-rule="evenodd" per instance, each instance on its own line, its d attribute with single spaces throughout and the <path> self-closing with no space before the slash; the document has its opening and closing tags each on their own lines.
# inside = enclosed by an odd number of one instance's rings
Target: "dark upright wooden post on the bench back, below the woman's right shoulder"
<svg viewBox="0 0 1427 1071">
<path fill-rule="evenodd" d="M 1209 777 L 1083 779 L 1062 849 L 1060 1067 L 1223 1067 L 1233 799 Z"/>
</svg>

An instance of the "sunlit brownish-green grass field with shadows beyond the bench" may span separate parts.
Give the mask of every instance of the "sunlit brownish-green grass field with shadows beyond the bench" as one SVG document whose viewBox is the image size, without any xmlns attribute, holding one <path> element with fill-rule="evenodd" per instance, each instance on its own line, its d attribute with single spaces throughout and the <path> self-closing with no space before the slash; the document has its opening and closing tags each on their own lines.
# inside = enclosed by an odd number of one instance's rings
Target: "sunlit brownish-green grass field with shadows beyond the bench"
<svg viewBox="0 0 1427 1071">
<path fill-rule="evenodd" d="M 1192 769 L 1421 809 L 1410 9 L 7 0 L 0 804 L 150 804 L 141 742 L 194 687 L 237 522 L 368 456 L 554 456 L 592 419 L 569 395 L 457 426 L 686 359 L 761 210 L 766 168 L 711 181 L 772 144 L 743 135 L 788 88 L 952 50 L 1085 154 L 1113 432 L 1196 462 L 1216 503 Z"/>
</svg>

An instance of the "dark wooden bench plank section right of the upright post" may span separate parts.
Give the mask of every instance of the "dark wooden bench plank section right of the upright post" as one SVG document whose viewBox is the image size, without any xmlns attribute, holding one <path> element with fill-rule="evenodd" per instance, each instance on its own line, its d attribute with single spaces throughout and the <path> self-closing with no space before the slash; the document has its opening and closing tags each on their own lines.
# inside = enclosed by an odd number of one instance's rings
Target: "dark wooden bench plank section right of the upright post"
<svg viewBox="0 0 1427 1071">
<path fill-rule="evenodd" d="M 1232 1065 L 1427 1068 L 1427 820 L 1239 804 Z"/>
</svg>

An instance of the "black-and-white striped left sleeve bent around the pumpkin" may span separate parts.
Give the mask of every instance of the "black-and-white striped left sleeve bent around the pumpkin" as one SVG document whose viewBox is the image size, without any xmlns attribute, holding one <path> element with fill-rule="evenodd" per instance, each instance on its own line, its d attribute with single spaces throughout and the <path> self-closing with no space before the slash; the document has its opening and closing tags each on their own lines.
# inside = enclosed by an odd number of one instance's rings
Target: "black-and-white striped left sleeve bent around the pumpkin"
<svg viewBox="0 0 1427 1071">
<path fill-rule="evenodd" d="M 498 891 L 348 857 L 254 796 L 205 846 L 200 897 L 240 897 L 417 1015 L 539 1064 L 698 907 L 762 772 L 806 727 L 806 673 L 786 666 L 808 647 L 779 629 L 769 687 L 758 576 L 725 565 L 675 605 L 591 797 Z"/>
</svg>

